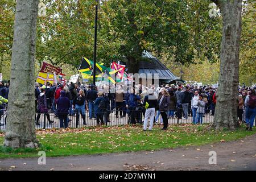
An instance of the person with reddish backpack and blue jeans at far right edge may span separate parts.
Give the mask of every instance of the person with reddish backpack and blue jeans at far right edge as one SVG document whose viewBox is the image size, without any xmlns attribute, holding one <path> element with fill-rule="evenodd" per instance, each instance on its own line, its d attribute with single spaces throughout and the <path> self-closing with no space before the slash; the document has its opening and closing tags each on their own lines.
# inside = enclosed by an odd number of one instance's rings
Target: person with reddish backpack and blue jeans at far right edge
<svg viewBox="0 0 256 182">
<path fill-rule="evenodd" d="M 256 96 L 254 89 L 250 89 L 250 94 L 246 96 L 245 107 L 246 130 L 253 131 L 253 123 L 256 115 Z"/>
</svg>

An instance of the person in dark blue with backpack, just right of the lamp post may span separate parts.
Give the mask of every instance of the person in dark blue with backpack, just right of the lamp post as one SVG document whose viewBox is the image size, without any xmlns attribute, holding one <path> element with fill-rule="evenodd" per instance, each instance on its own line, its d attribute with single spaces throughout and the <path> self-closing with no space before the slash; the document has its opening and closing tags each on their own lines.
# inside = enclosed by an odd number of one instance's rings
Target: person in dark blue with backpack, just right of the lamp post
<svg viewBox="0 0 256 182">
<path fill-rule="evenodd" d="M 96 113 L 97 125 L 104 124 L 103 115 L 106 110 L 105 98 L 102 96 L 102 92 L 98 92 L 98 98 L 94 101 L 94 110 Z"/>
</svg>

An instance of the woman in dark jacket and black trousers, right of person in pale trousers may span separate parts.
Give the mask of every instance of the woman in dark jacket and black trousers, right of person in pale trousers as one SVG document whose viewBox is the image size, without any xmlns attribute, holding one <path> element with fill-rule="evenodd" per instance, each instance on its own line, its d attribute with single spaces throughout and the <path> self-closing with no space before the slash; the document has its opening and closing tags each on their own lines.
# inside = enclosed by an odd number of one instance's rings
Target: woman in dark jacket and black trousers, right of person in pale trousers
<svg viewBox="0 0 256 182">
<path fill-rule="evenodd" d="M 165 88 L 162 89 L 162 96 L 160 97 L 160 100 L 158 100 L 159 103 L 159 110 L 161 113 L 161 116 L 163 118 L 163 128 L 162 130 L 167 130 L 168 128 L 168 109 L 170 105 L 170 94 L 167 92 Z"/>
</svg>

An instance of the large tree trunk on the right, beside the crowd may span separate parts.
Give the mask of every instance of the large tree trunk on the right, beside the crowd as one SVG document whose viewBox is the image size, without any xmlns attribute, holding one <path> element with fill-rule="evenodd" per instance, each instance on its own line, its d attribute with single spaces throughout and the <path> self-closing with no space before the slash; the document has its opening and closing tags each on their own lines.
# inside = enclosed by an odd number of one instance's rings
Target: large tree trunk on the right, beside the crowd
<svg viewBox="0 0 256 182">
<path fill-rule="evenodd" d="M 237 118 L 237 89 L 239 82 L 239 49 L 241 36 L 242 0 L 219 0 L 223 19 L 220 77 L 218 80 L 217 104 L 214 129 L 235 129 Z"/>
</svg>

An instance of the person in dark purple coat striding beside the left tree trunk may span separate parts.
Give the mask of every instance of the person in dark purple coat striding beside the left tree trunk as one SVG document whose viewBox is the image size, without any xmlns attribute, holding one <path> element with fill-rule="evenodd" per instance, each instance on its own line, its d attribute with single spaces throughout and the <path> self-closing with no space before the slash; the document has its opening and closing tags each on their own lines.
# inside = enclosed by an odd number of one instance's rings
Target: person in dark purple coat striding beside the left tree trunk
<svg viewBox="0 0 256 182">
<path fill-rule="evenodd" d="M 38 96 L 38 108 L 36 110 L 36 113 L 38 113 L 38 116 L 36 117 L 36 125 L 38 125 L 38 126 L 40 125 L 39 119 L 40 119 L 41 114 L 46 114 L 49 124 L 53 123 L 53 121 L 51 121 L 51 119 L 49 117 L 49 113 L 48 113 L 45 89 L 41 89 L 41 93 Z"/>
</svg>

